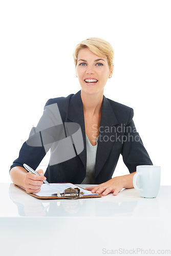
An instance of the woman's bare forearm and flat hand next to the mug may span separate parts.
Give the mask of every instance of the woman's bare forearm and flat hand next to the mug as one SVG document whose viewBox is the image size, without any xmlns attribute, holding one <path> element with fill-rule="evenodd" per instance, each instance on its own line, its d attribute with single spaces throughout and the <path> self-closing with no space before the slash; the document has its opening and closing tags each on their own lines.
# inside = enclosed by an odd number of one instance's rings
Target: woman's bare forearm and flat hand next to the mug
<svg viewBox="0 0 171 256">
<path fill-rule="evenodd" d="M 117 196 L 122 188 L 134 187 L 133 177 L 135 173 L 114 177 L 113 179 L 99 185 L 86 187 L 86 189 L 92 191 L 92 193 L 102 194 L 102 196 L 106 196 L 109 193 L 113 193 L 114 196 Z"/>
</svg>

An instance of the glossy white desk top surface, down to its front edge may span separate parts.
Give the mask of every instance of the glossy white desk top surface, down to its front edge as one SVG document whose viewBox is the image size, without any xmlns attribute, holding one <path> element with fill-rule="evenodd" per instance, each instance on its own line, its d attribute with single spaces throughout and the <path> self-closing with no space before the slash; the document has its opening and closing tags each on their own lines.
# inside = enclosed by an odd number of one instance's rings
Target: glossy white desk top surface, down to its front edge
<svg viewBox="0 0 171 256">
<path fill-rule="evenodd" d="M 81 185 L 80 185 L 81 186 Z M 86 187 L 89 185 L 82 185 Z M 141 198 L 134 188 L 117 196 L 77 200 L 40 200 L 14 184 L 0 183 L 2 217 L 171 218 L 171 186 L 161 186 L 156 198 Z"/>
</svg>

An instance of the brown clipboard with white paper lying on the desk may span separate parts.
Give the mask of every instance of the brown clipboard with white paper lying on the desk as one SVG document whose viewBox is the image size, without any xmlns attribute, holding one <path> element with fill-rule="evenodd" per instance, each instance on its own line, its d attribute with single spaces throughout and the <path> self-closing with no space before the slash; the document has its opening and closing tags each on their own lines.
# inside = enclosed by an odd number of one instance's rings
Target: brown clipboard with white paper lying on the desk
<svg viewBox="0 0 171 256">
<path fill-rule="evenodd" d="M 26 189 L 15 185 L 15 187 L 26 192 Z M 38 199 L 81 199 L 81 198 L 98 198 L 101 194 L 92 194 L 91 191 L 86 190 L 72 183 L 50 183 L 42 184 L 41 190 L 36 194 L 27 193 Z"/>
</svg>

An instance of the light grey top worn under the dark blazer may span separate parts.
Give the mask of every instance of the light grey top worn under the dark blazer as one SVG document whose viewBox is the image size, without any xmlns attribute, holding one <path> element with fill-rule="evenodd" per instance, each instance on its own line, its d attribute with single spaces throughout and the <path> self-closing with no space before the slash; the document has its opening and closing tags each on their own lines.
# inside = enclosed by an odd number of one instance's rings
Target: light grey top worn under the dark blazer
<svg viewBox="0 0 171 256">
<path fill-rule="evenodd" d="M 98 137 L 96 142 L 98 144 Z M 86 135 L 86 147 L 87 147 L 86 177 L 81 182 L 81 184 L 94 184 L 97 144 L 93 146 Z"/>
</svg>

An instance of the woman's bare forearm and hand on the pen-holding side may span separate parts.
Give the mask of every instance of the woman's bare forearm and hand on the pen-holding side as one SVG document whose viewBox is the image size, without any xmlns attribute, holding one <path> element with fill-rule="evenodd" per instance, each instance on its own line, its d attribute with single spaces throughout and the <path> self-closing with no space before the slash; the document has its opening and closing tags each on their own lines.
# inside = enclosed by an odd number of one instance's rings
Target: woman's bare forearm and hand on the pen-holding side
<svg viewBox="0 0 171 256">
<path fill-rule="evenodd" d="M 36 172 L 40 174 L 40 176 L 28 173 L 23 167 L 15 166 L 10 170 L 10 177 L 14 184 L 24 187 L 27 193 L 38 193 L 46 177 L 42 169 Z"/>
</svg>

